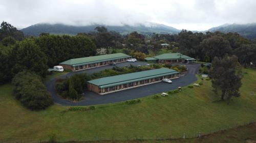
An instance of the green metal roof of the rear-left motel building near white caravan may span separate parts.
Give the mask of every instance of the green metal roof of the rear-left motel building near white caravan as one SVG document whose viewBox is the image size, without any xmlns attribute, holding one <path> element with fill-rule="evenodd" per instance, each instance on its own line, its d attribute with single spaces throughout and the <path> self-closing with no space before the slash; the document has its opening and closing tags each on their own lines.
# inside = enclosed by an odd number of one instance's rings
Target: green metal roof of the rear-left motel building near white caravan
<svg viewBox="0 0 256 143">
<path fill-rule="evenodd" d="M 113 54 L 105 54 L 105 55 L 97 55 L 97 56 L 89 56 L 84 58 L 70 59 L 68 61 L 62 62 L 60 64 L 63 65 L 77 65 L 77 64 L 92 64 L 98 62 L 104 62 L 109 60 L 115 60 L 119 58 L 129 58 L 130 55 L 124 53 L 113 53 Z"/>
</svg>

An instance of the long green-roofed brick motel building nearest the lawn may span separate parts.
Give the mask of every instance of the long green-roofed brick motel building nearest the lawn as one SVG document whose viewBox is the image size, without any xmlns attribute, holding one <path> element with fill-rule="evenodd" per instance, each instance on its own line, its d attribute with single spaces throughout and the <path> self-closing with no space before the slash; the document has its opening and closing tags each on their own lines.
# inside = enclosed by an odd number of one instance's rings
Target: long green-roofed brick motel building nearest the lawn
<svg viewBox="0 0 256 143">
<path fill-rule="evenodd" d="M 180 73 L 175 70 L 160 68 L 90 80 L 87 82 L 87 88 L 89 91 L 104 95 L 161 82 L 164 78 L 179 78 L 179 76 Z"/>
</svg>

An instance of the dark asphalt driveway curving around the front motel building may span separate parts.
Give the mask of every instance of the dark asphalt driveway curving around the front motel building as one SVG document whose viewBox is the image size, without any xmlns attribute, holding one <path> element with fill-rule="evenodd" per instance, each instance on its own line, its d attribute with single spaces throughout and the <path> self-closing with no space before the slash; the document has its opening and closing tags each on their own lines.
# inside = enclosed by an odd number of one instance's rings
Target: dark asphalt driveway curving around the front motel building
<svg viewBox="0 0 256 143">
<path fill-rule="evenodd" d="M 135 63 L 119 63 L 116 66 L 118 67 L 124 67 L 129 66 L 130 64 L 137 66 L 137 65 L 146 65 L 146 62 L 135 62 Z M 177 89 L 178 87 L 184 87 L 192 82 L 195 82 L 197 80 L 197 77 L 195 74 L 197 73 L 198 68 L 200 67 L 200 64 L 194 64 L 194 65 L 186 65 L 188 68 L 188 72 L 186 75 L 181 76 L 180 78 L 172 79 L 173 83 L 168 84 L 164 82 L 158 82 L 153 84 L 144 85 L 142 87 L 137 87 L 133 89 L 123 90 L 115 93 L 105 94 L 105 95 L 99 95 L 94 92 L 86 91 L 84 93 L 85 100 L 79 101 L 79 102 L 72 102 L 70 100 L 62 99 L 57 96 L 57 93 L 54 89 L 54 84 L 57 78 L 65 78 L 66 76 L 72 76 L 76 73 L 95 73 L 99 72 L 104 69 L 111 69 L 113 66 L 103 66 L 83 71 L 77 71 L 77 72 L 70 72 L 65 75 L 58 76 L 56 78 L 51 79 L 46 83 L 47 90 L 51 93 L 53 100 L 55 103 L 60 105 L 68 105 L 68 106 L 86 106 L 86 105 L 96 105 L 96 104 L 106 104 L 106 103 L 114 103 L 114 102 L 120 102 L 120 101 L 126 101 L 130 99 L 145 97 L 169 90 Z"/>
</svg>

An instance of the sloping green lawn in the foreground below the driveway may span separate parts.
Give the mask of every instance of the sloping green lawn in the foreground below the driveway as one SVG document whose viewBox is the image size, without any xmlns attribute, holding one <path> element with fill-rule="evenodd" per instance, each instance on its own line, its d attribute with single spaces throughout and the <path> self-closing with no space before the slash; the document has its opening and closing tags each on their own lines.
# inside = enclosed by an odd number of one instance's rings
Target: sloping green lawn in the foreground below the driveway
<svg viewBox="0 0 256 143">
<path fill-rule="evenodd" d="M 53 105 L 44 111 L 30 111 L 12 96 L 12 85 L 0 87 L 0 139 L 26 142 L 47 140 L 56 134 L 60 141 L 143 138 L 195 137 L 256 122 L 256 70 L 244 69 L 241 97 L 230 104 L 211 90 L 210 81 L 198 88 L 141 103 L 123 102 L 97 105 L 95 110 L 67 111 L 66 106 Z M 106 95 L 107 96 L 107 95 Z"/>
</svg>

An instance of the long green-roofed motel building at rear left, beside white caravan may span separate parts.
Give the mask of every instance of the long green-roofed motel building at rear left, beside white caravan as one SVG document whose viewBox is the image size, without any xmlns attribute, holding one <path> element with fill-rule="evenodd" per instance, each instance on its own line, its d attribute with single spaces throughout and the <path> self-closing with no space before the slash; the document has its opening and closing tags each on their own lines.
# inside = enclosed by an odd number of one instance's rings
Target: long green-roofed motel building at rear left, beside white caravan
<svg viewBox="0 0 256 143">
<path fill-rule="evenodd" d="M 113 53 L 113 54 L 89 56 L 85 58 L 70 59 L 68 61 L 59 63 L 59 66 L 62 66 L 64 69 L 70 69 L 72 71 L 80 71 L 85 69 L 106 66 L 112 62 L 115 62 L 115 63 L 125 62 L 126 60 L 131 58 L 132 56 L 124 53 Z"/>
</svg>

